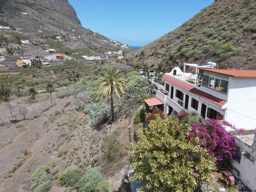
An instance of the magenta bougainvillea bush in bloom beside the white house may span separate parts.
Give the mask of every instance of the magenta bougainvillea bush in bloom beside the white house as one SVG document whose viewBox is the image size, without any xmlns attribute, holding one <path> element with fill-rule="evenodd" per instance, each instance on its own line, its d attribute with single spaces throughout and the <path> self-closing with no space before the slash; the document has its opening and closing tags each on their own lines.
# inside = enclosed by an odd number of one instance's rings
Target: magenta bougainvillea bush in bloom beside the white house
<svg viewBox="0 0 256 192">
<path fill-rule="evenodd" d="M 217 163 L 228 162 L 236 156 L 237 145 L 234 136 L 222 125 L 229 126 L 227 122 L 223 124 L 215 119 L 208 119 L 203 123 L 194 124 L 189 135 L 189 138 L 197 135 L 201 139 L 200 145 L 217 159 Z"/>
</svg>

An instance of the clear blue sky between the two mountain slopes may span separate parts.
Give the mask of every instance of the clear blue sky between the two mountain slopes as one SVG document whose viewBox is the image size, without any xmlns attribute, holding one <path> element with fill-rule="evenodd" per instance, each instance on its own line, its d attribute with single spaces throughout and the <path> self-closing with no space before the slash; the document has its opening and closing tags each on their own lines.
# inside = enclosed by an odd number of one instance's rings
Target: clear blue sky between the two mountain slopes
<svg viewBox="0 0 256 192">
<path fill-rule="evenodd" d="M 82 26 L 130 46 L 144 46 L 214 0 L 68 0 Z"/>
</svg>

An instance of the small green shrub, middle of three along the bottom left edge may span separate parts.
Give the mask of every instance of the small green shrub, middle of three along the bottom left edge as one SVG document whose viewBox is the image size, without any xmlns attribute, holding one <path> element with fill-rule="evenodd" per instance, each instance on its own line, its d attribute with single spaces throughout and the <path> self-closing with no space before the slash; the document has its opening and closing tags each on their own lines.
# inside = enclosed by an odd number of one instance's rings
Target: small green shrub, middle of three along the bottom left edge
<svg viewBox="0 0 256 192">
<path fill-rule="evenodd" d="M 58 177 L 58 184 L 62 187 L 73 187 L 82 177 L 82 173 L 77 170 L 67 170 Z"/>
</svg>

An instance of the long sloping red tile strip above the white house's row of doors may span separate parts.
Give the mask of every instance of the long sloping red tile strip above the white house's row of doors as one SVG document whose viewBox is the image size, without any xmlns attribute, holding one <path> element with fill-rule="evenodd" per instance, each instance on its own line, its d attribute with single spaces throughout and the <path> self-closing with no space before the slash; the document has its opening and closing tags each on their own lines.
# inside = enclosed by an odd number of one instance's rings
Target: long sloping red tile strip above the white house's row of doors
<svg viewBox="0 0 256 192">
<path fill-rule="evenodd" d="M 214 103 L 215 105 L 218 105 L 220 107 L 222 107 L 223 105 L 225 105 L 225 103 L 227 103 L 227 101 L 223 100 L 223 99 L 220 99 L 220 98 L 217 98 L 217 97 L 214 97 L 213 95 L 209 94 L 209 93 L 206 93 L 206 92 L 203 92 L 201 90 L 198 90 L 196 89 L 195 87 L 193 86 L 190 86 L 186 83 L 182 83 L 168 75 L 165 75 L 163 76 L 163 79 L 165 79 L 166 81 L 168 82 L 171 82 L 172 84 L 180 87 L 181 89 L 183 90 L 186 90 L 190 93 L 193 93 L 195 95 L 197 95 L 198 97 L 201 97 L 207 101 L 210 101 L 212 103 Z"/>
</svg>

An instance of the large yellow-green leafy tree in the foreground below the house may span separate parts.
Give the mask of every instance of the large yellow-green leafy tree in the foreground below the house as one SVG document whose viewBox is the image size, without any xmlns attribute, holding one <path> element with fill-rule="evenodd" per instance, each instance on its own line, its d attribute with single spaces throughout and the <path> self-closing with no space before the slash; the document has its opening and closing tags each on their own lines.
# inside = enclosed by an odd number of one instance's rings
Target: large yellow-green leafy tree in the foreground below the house
<svg viewBox="0 0 256 192">
<path fill-rule="evenodd" d="M 156 115 L 148 128 L 138 132 L 130 162 L 136 169 L 132 179 L 146 180 L 144 191 L 193 191 L 210 183 L 215 159 L 190 135 L 190 126 L 177 117 Z"/>
</svg>

